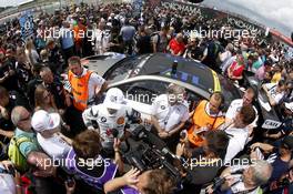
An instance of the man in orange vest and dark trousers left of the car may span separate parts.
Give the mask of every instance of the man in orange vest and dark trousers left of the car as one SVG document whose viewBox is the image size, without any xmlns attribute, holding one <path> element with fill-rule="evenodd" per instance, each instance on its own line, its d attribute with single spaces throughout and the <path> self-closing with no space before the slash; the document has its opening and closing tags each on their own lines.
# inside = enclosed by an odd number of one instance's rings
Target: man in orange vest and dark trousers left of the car
<svg viewBox="0 0 293 194">
<path fill-rule="evenodd" d="M 105 90 L 107 82 L 102 76 L 83 68 L 79 57 L 71 57 L 68 63 L 68 81 L 71 85 L 70 93 L 72 95 L 72 101 L 69 95 L 67 96 L 68 123 L 71 123 L 70 126 L 74 129 L 72 131 L 77 134 L 85 129 L 82 112 L 95 104 L 95 99 Z"/>
</svg>

